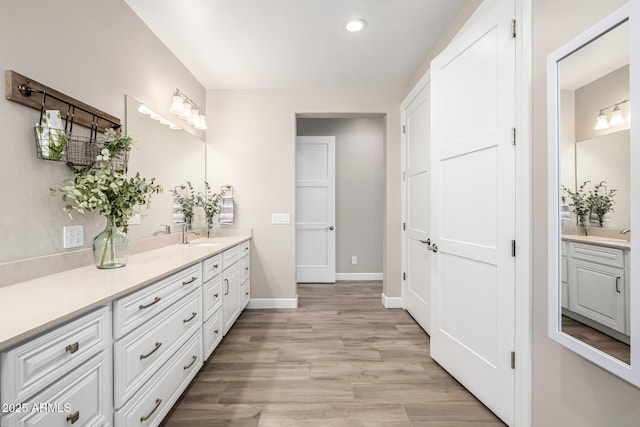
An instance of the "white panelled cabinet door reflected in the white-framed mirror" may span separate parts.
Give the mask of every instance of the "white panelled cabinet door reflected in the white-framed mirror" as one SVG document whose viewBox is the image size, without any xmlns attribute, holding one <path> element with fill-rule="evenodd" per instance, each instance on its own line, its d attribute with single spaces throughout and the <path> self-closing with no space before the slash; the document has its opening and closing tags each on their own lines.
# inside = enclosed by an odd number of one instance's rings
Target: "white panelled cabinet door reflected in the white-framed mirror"
<svg viewBox="0 0 640 427">
<path fill-rule="evenodd" d="M 625 274 L 621 268 L 570 261 L 569 309 L 625 333 Z"/>
</svg>

